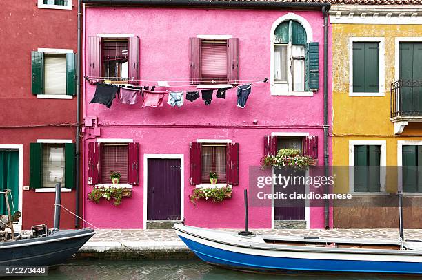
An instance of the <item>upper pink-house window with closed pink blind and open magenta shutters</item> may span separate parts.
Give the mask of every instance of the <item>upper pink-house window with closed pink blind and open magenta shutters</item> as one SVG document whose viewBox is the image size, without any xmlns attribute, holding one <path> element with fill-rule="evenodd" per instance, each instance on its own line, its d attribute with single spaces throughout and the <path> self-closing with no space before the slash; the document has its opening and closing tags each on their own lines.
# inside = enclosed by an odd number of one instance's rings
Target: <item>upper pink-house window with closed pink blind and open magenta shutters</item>
<svg viewBox="0 0 422 280">
<path fill-rule="evenodd" d="M 190 38 L 190 83 L 238 84 L 239 39 Z"/>
</svg>

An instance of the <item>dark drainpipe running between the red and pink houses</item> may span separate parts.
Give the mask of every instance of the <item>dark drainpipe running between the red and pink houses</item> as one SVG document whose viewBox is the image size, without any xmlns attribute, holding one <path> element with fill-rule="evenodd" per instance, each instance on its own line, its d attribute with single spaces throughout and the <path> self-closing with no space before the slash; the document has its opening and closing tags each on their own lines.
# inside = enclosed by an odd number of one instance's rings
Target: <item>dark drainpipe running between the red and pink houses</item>
<svg viewBox="0 0 422 280">
<path fill-rule="evenodd" d="M 78 50 L 77 50 L 77 133 L 76 133 L 76 185 L 75 185 L 75 192 L 76 192 L 76 202 L 75 202 L 75 211 L 76 211 L 76 215 L 79 215 L 79 193 L 81 192 L 79 190 L 79 162 L 80 162 L 80 153 L 81 153 L 81 149 L 79 149 L 80 146 L 80 131 L 81 131 L 81 53 L 82 53 L 82 46 L 81 46 L 81 36 L 82 36 L 82 32 L 81 32 L 81 18 L 82 18 L 82 14 L 81 14 L 81 1 L 78 0 Z M 75 228 L 79 228 L 79 217 L 75 217 L 74 219 L 74 227 Z"/>
</svg>

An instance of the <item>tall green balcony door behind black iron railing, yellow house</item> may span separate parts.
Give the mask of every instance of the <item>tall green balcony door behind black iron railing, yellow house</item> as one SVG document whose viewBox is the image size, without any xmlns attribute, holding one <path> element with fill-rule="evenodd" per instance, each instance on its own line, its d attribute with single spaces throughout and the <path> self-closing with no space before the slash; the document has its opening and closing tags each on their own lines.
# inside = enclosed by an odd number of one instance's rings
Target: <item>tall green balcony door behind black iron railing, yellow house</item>
<svg viewBox="0 0 422 280">
<path fill-rule="evenodd" d="M 422 43 L 400 43 L 400 80 L 422 80 Z M 404 115 L 422 115 L 421 87 L 400 89 Z"/>
</svg>

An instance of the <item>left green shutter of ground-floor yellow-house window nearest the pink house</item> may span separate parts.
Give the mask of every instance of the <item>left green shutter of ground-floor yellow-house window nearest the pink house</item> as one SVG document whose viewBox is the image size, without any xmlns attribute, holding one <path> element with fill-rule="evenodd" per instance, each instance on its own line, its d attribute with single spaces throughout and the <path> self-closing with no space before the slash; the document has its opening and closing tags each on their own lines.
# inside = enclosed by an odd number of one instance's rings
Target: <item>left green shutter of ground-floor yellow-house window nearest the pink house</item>
<svg viewBox="0 0 422 280">
<path fill-rule="evenodd" d="M 368 146 L 354 146 L 354 191 L 368 191 Z"/>
</svg>

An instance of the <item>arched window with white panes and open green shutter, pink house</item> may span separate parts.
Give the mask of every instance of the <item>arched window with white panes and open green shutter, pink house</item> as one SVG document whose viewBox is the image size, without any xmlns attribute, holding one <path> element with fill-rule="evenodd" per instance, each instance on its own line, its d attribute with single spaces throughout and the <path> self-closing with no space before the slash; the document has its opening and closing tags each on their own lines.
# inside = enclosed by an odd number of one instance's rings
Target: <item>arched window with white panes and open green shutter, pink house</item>
<svg viewBox="0 0 422 280">
<path fill-rule="evenodd" d="M 316 91 L 319 87 L 318 43 L 298 21 L 287 20 L 274 29 L 272 38 L 272 94 Z"/>
</svg>

